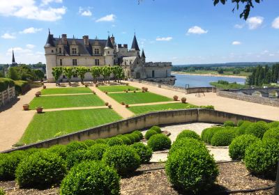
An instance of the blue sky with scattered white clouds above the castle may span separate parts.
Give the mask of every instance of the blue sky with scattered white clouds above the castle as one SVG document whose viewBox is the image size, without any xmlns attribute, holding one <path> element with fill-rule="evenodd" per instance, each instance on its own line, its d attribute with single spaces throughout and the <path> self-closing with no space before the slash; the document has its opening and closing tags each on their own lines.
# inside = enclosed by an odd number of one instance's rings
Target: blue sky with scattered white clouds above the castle
<svg viewBox="0 0 279 195">
<path fill-rule="evenodd" d="M 175 64 L 279 61 L 279 1 L 264 0 L 239 19 L 234 5 L 190 0 L 1 0 L 0 63 L 45 62 L 48 28 L 55 37 L 107 38 L 130 47 L 134 31 L 147 61 Z"/>
</svg>

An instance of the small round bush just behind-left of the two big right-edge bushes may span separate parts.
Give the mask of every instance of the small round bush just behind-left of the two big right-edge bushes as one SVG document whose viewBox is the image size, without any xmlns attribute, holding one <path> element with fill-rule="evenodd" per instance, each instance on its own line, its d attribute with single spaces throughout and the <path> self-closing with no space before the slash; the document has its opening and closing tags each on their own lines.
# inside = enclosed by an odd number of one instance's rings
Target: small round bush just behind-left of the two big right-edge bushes
<svg viewBox="0 0 279 195">
<path fill-rule="evenodd" d="M 212 146 L 229 146 L 236 137 L 234 129 L 222 130 L 216 132 L 211 139 Z"/>
</svg>

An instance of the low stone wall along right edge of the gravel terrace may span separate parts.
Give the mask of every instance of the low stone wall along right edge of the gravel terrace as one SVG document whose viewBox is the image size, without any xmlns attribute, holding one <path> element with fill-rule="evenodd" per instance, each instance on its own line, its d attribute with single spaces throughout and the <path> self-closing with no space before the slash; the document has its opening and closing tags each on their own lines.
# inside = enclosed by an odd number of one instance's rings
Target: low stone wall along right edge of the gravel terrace
<svg viewBox="0 0 279 195">
<path fill-rule="evenodd" d="M 216 94 L 218 96 L 225 97 L 225 98 L 233 98 L 236 100 L 243 100 L 246 102 L 254 102 L 257 104 L 265 104 L 273 107 L 279 107 L 279 101 L 273 100 L 272 98 L 264 98 L 255 95 L 246 95 L 246 94 L 224 91 L 224 90 L 218 90 Z"/>
</svg>

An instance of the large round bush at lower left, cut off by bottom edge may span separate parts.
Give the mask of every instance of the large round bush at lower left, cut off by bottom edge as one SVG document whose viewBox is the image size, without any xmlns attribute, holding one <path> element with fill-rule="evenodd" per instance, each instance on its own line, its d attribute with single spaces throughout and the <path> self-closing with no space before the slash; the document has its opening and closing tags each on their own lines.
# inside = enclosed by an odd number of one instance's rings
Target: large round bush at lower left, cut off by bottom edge
<svg viewBox="0 0 279 195">
<path fill-rule="evenodd" d="M 100 162 L 82 162 L 70 170 L 61 182 L 61 195 L 119 194 L 120 178 L 116 170 Z"/>
</svg>

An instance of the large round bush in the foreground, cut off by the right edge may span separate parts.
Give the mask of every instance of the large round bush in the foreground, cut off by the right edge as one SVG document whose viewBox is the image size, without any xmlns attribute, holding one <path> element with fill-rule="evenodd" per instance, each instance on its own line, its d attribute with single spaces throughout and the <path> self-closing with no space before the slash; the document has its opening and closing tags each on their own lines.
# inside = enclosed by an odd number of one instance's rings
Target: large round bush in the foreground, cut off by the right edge
<svg viewBox="0 0 279 195">
<path fill-rule="evenodd" d="M 245 151 L 246 168 L 257 175 L 275 178 L 279 161 L 279 143 L 274 139 L 256 141 Z"/>
</svg>

